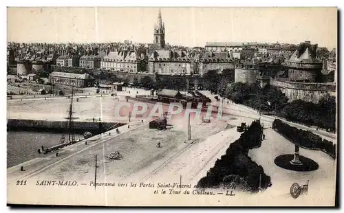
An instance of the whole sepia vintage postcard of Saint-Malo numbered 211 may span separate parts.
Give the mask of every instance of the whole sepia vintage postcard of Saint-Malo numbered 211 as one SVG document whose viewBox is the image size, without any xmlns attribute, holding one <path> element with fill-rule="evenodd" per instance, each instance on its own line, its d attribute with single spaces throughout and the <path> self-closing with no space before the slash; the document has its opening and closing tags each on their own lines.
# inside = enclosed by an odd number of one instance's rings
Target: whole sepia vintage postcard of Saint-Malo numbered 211
<svg viewBox="0 0 344 213">
<path fill-rule="evenodd" d="M 336 205 L 337 8 L 7 13 L 9 205 Z"/>
</svg>

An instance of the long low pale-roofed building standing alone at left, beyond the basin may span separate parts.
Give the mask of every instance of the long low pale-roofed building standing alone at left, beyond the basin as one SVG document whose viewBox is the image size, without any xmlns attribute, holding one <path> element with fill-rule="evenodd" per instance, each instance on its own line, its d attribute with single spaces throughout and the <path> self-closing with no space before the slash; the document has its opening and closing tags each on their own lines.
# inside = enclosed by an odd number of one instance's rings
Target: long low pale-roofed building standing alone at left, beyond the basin
<svg viewBox="0 0 344 213">
<path fill-rule="evenodd" d="M 94 78 L 89 74 L 72 74 L 53 71 L 49 75 L 49 82 L 55 85 L 68 85 L 74 87 L 94 87 Z"/>
</svg>

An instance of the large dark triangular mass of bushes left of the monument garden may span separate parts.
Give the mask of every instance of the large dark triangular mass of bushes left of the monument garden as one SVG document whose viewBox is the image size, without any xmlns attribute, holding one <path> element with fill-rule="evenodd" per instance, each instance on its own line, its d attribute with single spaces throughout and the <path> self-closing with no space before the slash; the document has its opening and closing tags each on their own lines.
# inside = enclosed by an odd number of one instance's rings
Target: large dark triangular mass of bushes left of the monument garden
<svg viewBox="0 0 344 213">
<path fill-rule="evenodd" d="M 254 121 L 240 138 L 230 144 L 226 155 L 215 161 L 215 165 L 206 177 L 198 181 L 197 187 L 216 188 L 220 185 L 237 186 L 237 189 L 257 192 L 259 177 L 261 175 L 261 187 L 270 185 L 270 177 L 264 173 L 264 169 L 258 166 L 250 157 L 248 150 L 261 146 L 263 128 L 259 121 Z"/>
</svg>

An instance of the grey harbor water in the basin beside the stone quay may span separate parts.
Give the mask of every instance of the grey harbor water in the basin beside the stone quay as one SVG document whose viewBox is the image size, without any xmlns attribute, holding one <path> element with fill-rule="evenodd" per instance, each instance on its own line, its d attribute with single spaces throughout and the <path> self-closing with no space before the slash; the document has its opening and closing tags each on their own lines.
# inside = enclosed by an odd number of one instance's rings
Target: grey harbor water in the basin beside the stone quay
<svg viewBox="0 0 344 213">
<path fill-rule="evenodd" d="M 44 156 L 44 154 L 39 154 L 37 150 L 41 146 L 50 147 L 60 144 L 61 136 L 61 133 L 8 131 L 7 168 Z M 83 135 L 80 134 L 76 134 L 75 137 L 76 139 L 83 139 Z"/>
</svg>

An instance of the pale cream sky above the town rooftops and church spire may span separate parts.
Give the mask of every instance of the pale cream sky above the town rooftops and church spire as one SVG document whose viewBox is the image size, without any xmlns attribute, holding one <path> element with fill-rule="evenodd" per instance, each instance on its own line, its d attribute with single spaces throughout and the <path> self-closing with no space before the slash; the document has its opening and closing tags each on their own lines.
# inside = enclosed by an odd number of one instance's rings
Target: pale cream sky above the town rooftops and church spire
<svg viewBox="0 0 344 213">
<path fill-rule="evenodd" d="M 161 10 L 165 41 L 204 47 L 206 42 L 337 45 L 336 8 L 8 8 L 8 41 L 153 43 Z"/>
</svg>

